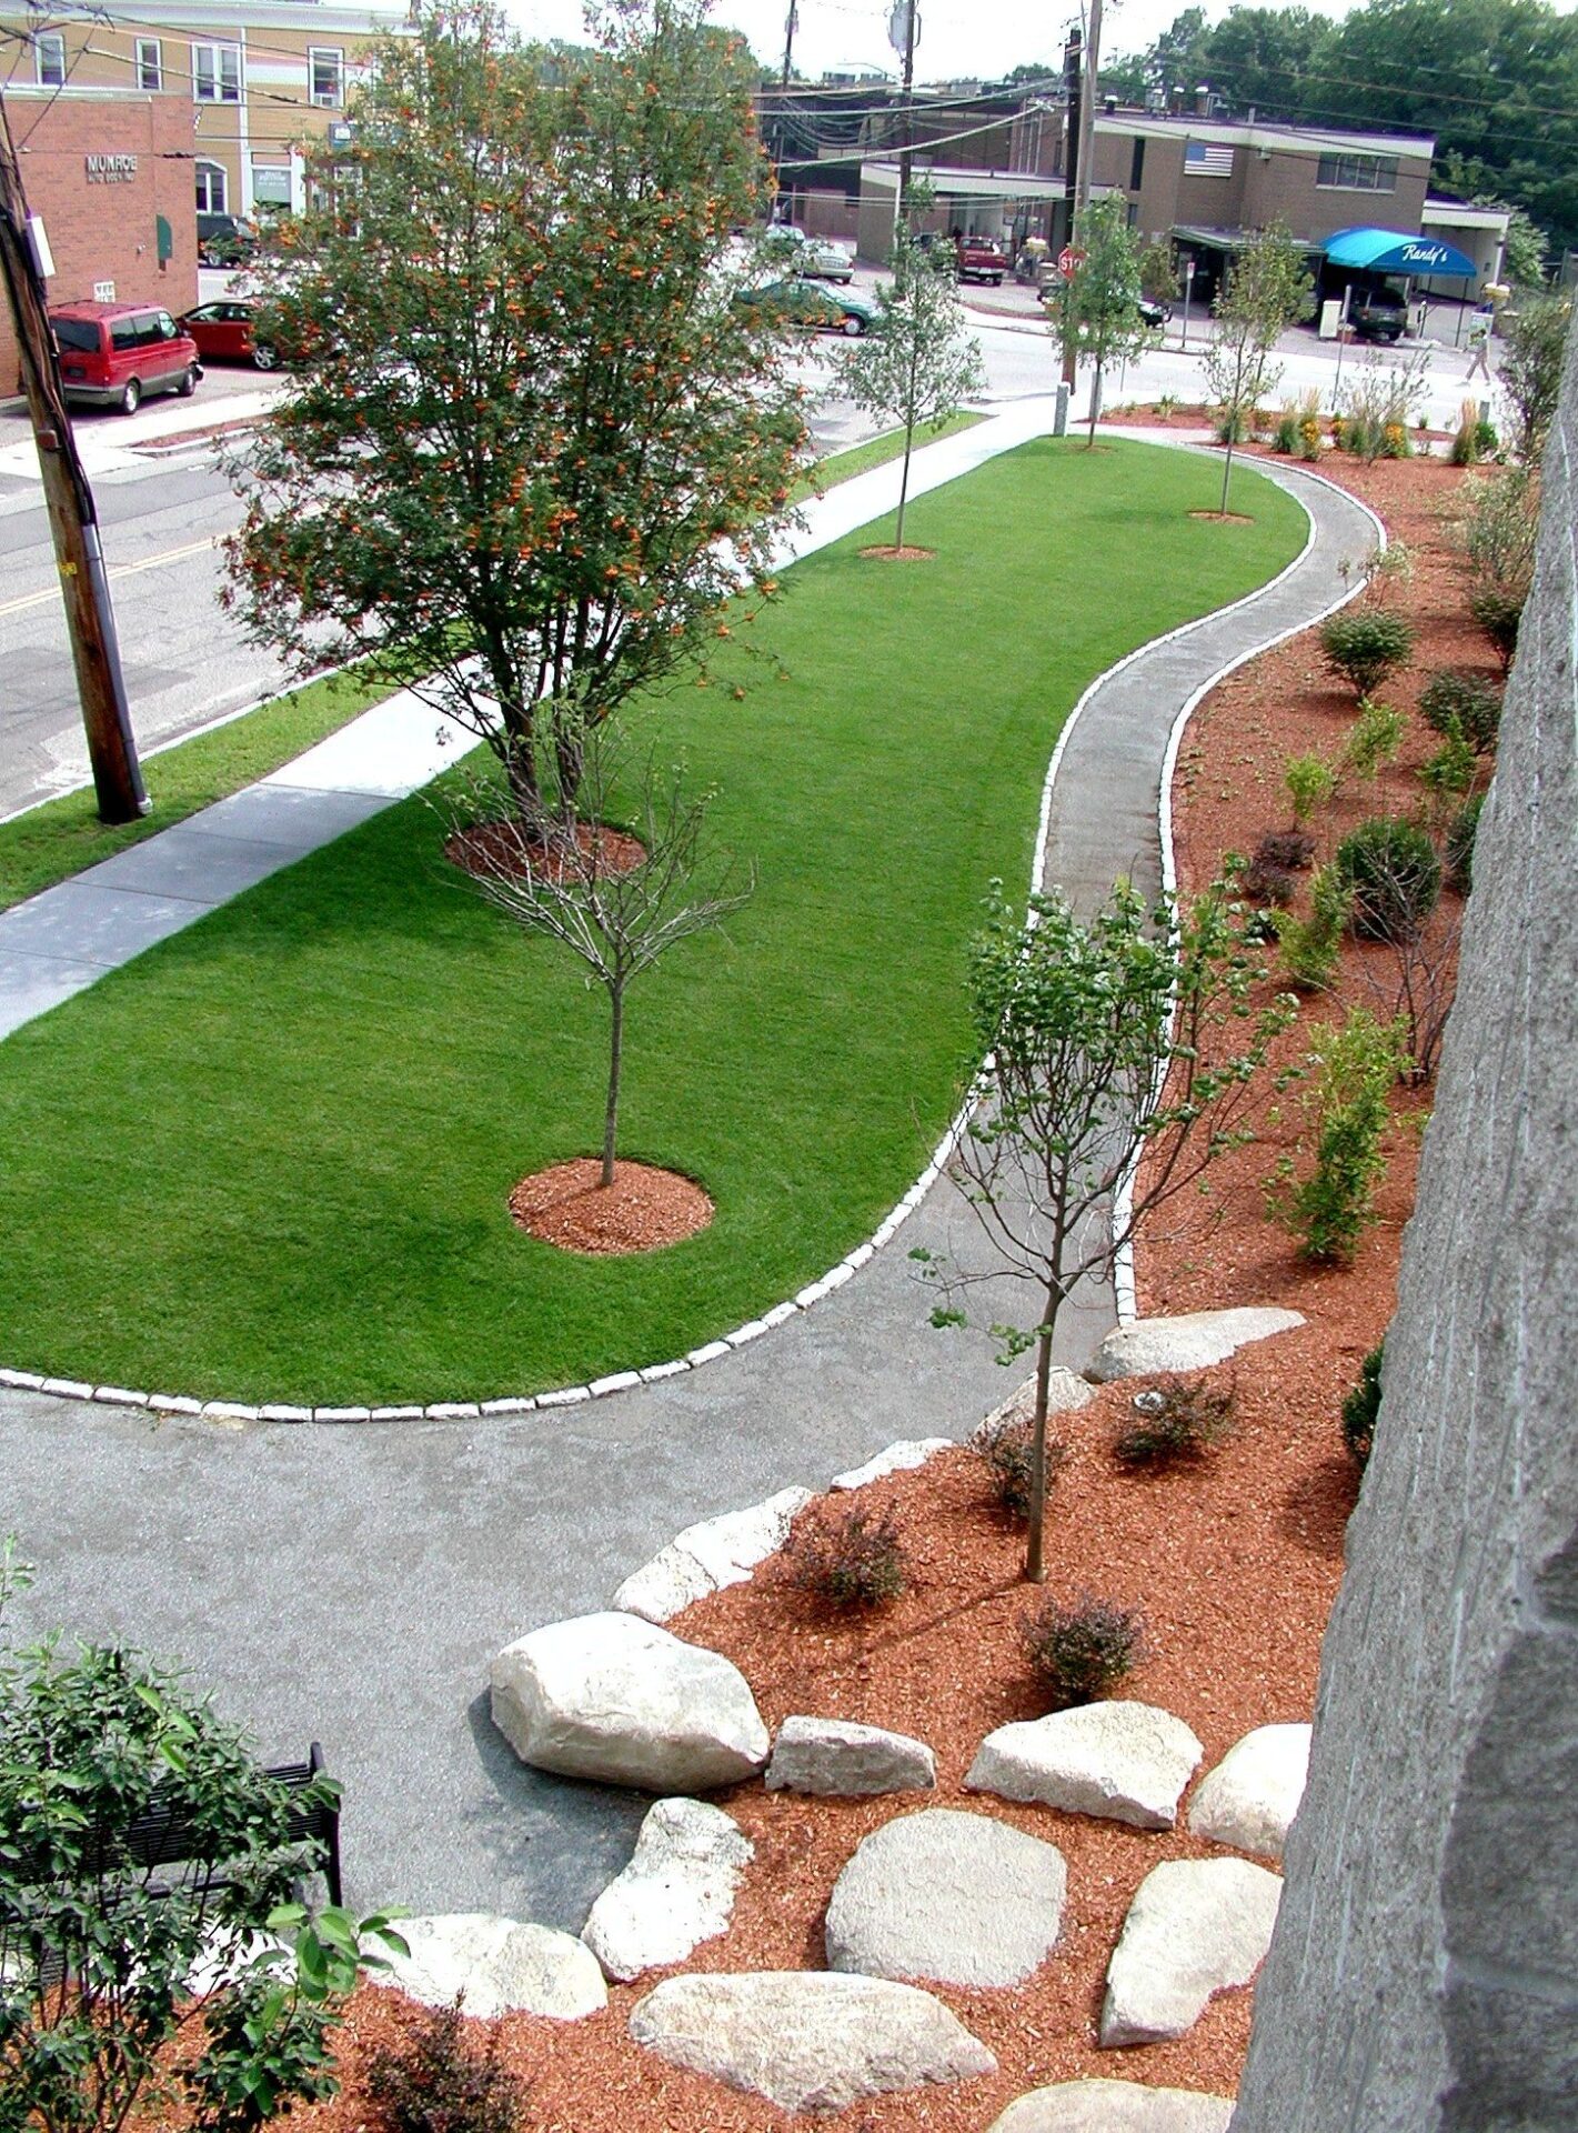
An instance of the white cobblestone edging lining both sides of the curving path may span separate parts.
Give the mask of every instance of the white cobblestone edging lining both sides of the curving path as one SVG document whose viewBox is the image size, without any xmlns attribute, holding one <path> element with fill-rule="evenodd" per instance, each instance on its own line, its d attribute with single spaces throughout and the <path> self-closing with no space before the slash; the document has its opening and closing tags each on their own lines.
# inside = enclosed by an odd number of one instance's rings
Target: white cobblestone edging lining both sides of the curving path
<svg viewBox="0 0 1578 2133">
<path fill-rule="evenodd" d="M 1164 439 L 1147 439 L 1147 442 L 1164 442 Z M 1171 448 L 1190 452 L 1201 450 L 1198 446 L 1192 444 L 1190 446 L 1175 444 Z M 1341 488 L 1337 482 L 1331 482 L 1326 476 L 1309 471 L 1307 467 L 1288 467 L 1277 471 L 1292 474 L 1301 482 L 1311 482 L 1322 488 L 1331 488 L 1346 501 L 1354 503 L 1373 523 L 1378 544 L 1382 548 L 1386 546 L 1386 529 L 1382 527 L 1380 518 L 1375 516 L 1375 512 L 1369 510 L 1367 503 L 1360 503 L 1358 497 L 1352 497 L 1350 491 Z M 1098 676 L 1094 676 L 1079 695 L 1079 700 L 1075 702 L 1073 710 L 1062 723 L 1062 729 L 1058 732 L 1058 740 L 1053 744 L 1051 759 L 1047 764 L 1047 776 L 1041 787 L 1041 813 L 1036 821 L 1036 843 L 1030 862 L 1032 892 L 1038 889 L 1045 879 L 1053 787 L 1068 747 L 1068 738 L 1075 732 L 1079 719 L 1083 717 L 1088 706 L 1096 700 L 1098 691 L 1105 689 L 1107 683 L 1113 680 L 1113 676 L 1134 665 L 1134 661 L 1147 657 L 1149 653 L 1158 651 L 1164 644 L 1175 644 L 1181 638 L 1188 638 L 1211 623 L 1220 623 L 1222 616 L 1254 606 L 1254 602 L 1265 599 L 1294 570 L 1299 570 L 1299 565 L 1309 557 L 1311 548 L 1316 546 L 1318 527 L 1314 512 L 1303 501 L 1299 491 L 1288 488 L 1288 495 L 1294 497 L 1294 501 L 1301 506 L 1301 510 L 1309 520 L 1309 531 L 1305 535 L 1299 555 L 1290 557 L 1290 561 L 1284 563 L 1284 567 L 1273 578 L 1267 578 L 1267 582 L 1256 587 L 1252 593 L 1243 593 L 1239 599 L 1233 599 L 1222 608 L 1213 608 L 1209 614 L 1196 614 L 1192 621 L 1179 623 L 1175 629 L 1166 629 L 1156 638 L 1147 638 L 1145 644 L 1137 644 L 1132 651 L 1124 653 L 1122 659 L 1115 659 L 1113 665 L 1105 668 Z M 1166 755 L 1162 764 L 1160 800 L 1158 800 L 1158 830 L 1162 838 L 1162 879 L 1169 889 L 1173 889 L 1177 881 L 1173 864 L 1171 779 L 1181 747 L 1184 729 L 1190 717 L 1194 715 L 1196 706 L 1205 700 L 1205 695 L 1211 689 L 1218 687 L 1218 683 L 1222 683 L 1228 674 L 1237 672 L 1250 659 L 1256 659 L 1260 657 L 1260 653 L 1271 651 L 1277 644 L 1284 644 L 1288 638 L 1299 636 L 1303 629 L 1311 629 L 1316 623 L 1324 621 L 1326 614 L 1333 614 L 1337 608 L 1346 606 L 1348 599 L 1354 599 L 1363 591 L 1363 582 L 1365 582 L 1363 576 L 1356 576 L 1352 589 L 1346 591 L 1341 599 L 1331 602 L 1314 616 L 1305 616 L 1299 623 L 1290 623 L 1288 627 L 1277 629 L 1273 636 L 1256 640 L 1252 646 L 1245 646 L 1243 651 L 1235 653 L 1186 700 L 1169 736 Z M 915 1180 L 915 1184 L 908 1188 L 908 1192 L 904 1192 L 904 1197 L 879 1222 L 872 1235 L 866 1237 L 862 1244 L 857 1244 L 851 1252 L 847 1252 L 834 1267 L 830 1267 L 827 1273 L 823 1273 L 815 1282 L 808 1282 L 804 1288 L 795 1290 L 793 1297 L 787 1297 L 785 1301 L 772 1305 L 772 1310 L 763 1312 L 757 1318 L 746 1320 L 734 1331 L 721 1333 L 716 1340 L 702 1342 L 697 1348 L 687 1350 L 687 1354 L 682 1357 L 674 1357 L 665 1363 L 648 1363 L 644 1369 L 616 1369 L 599 1378 L 593 1378 L 586 1384 L 567 1384 L 567 1386 L 557 1386 L 554 1391 L 533 1393 L 522 1397 L 501 1397 L 501 1399 L 480 1399 L 480 1401 L 446 1399 L 429 1404 L 412 1401 L 412 1404 L 384 1404 L 384 1406 L 354 1406 L 354 1404 L 296 1406 L 288 1401 L 249 1404 L 239 1399 L 196 1399 L 188 1393 L 147 1393 L 132 1386 L 90 1384 L 85 1380 L 58 1378 L 58 1376 L 45 1376 L 43 1372 L 4 1369 L 4 1367 L 0 1367 L 0 1391 L 38 1393 L 58 1399 L 94 1401 L 107 1408 L 136 1408 L 149 1414 L 188 1416 L 194 1421 L 207 1421 L 218 1427 L 247 1427 L 256 1423 L 360 1425 L 360 1423 L 407 1423 L 407 1421 L 409 1423 L 484 1421 L 497 1416 L 533 1414 L 540 1408 L 578 1406 L 589 1399 L 603 1399 L 610 1393 L 629 1391 L 631 1386 L 638 1384 L 657 1384 L 665 1378 L 676 1378 L 685 1372 L 702 1369 L 706 1363 L 719 1361 L 725 1354 L 734 1354 L 736 1348 L 744 1348 L 751 1342 L 761 1340 L 766 1333 L 774 1331 L 787 1320 L 800 1316 L 802 1312 L 812 1310 L 817 1303 L 823 1301 L 823 1297 L 830 1297 L 834 1290 L 842 1288 L 844 1282 L 851 1282 L 855 1273 L 859 1273 L 859 1269 L 893 1239 L 900 1226 L 911 1218 L 911 1214 L 915 1214 L 915 1209 L 921 1205 L 921 1201 L 932 1190 L 936 1180 L 943 1175 L 943 1169 L 947 1167 L 964 1133 L 966 1120 L 975 1109 L 975 1101 L 977 1092 L 972 1090 L 966 1103 L 949 1120 L 947 1130 L 938 1139 L 930 1162 Z M 1117 1269 L 1117 1316 L 1120 1322 L 1124 1325 L 1137 1316 L 1132 1256 L 1128 1258 L 1128 1263 L 1120 1263 Z"/>
</svg>

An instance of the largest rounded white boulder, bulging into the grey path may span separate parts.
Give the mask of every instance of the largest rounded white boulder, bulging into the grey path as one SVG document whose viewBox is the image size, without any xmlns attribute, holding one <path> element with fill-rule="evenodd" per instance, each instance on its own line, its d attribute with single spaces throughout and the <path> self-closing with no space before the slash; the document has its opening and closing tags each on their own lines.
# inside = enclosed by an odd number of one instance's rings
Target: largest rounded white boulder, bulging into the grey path
<svg viewBox="0 0 1578 2133">
<path fill-rule="evenodd" d="M 493 1659 L 493 1723 L 522 1762 L 646 1792 L 753 1777 L 770 1738 L 738 1666 L 640 1615 L 580 1615 Z"/>
</svg>

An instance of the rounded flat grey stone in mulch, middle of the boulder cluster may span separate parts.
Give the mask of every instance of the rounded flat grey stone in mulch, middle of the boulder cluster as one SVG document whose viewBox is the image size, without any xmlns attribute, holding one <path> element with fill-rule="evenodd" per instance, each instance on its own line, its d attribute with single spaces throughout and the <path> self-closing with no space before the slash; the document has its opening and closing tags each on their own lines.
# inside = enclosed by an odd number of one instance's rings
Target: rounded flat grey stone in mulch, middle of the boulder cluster
<svg viewBox="0 0 1578 2133">
<path fill-rule="evenodd" d="M 827 1905 L 827 1969 L 1017 1986 L 1058 1943 L 1068 1869 L 992 1815 L 928 1807 L 862 1839 Z"/>
</svg>

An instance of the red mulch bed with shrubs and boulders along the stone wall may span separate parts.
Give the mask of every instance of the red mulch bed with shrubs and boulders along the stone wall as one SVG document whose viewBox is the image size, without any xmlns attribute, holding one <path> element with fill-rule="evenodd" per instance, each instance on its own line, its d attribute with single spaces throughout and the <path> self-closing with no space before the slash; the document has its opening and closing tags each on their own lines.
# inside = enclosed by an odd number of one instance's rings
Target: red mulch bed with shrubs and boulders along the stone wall
<svg viewBox="0 0 1578 2133">
<path fill-rule="evenodd" d="M 1442 506 L 1459 474 L 1431 461 L 1360 467 L 1346 459 L 1329 459 L 1326 471 L 1363 495 L 1414 550 L 1412 580 L 1388 597 L 1414 616 L 1422 640 L 1410 674 L 1382 691 L 1386 700 L 1412 708 L 1427 674 L 1442 665 L 1488 670 L 1484 642 L 1463 614 L 1461 563 L 1442 533 Z M 1262 830 L 1286 825 L 1284 755 L 1335 753 L 1350 725 L 1352 702 L 1324 674 L 1314 636 L 1294 638 L 1213 691 L 1190 727 L 1175 787 L 1184 889 L 1209 881 L 1224 851 L 1250 851 Z M 1414 770 L 1433 749 L 1435 736 L 1410 721 L 1401 764 L 1382 774 L 1378 789 L 1341 798 L 1320 819 L 1320 855 L 1360 815 L 1412 811 L 1420 791 Z M 1346 958 L 1335 1011 L 1348 1000 L 1371 1003 L 1356 953 Z M 1286 1049 L 1301 1049 L 1297 1032 Z M 1348 1269 L 1311 1269 L 1267 1220 L 1260 1182 L 1277 1143 L 1294 1135 L 1297 1107 L 1288 1098 L 1279 1122 L 1262 1120 L 1271 1150 L 1228 1158 L 1209 1203 L 1190 1197 L 1164 1233 L 1145 1239 L 1145 1312 L 1275 1301 L 1309 1320 L 1213 1374 L 1235 1386 L 1235 1427 L 1218 1448 L 1171 1472 L 1120 1472 L 1109 1446 L 1132 1384 L 1109 1386 L 1060 1425 L 1068 1459 L 1051 1504 L 1049 1591 L 1090 1589 L 1143 1610 L 1149 1649 L 1124 1694 L 1188 1719 L 1207 1762 L 1247 1728 L 1309 1717 L 1314 1704 L 1320 1636 L 1356 1489 L 1337 1408 L 1390 1318 L 1418 1109 L 1399 1098 L 1380 1220 Z M 1107 1958 L 1134 1888 L 1158 1860 L 1209 1847 L 1188 1834 L 1143 1834 L 960 1792 L 989 1728 L 1045 1709 L 1017 1647 L 1030 1604 L 1017 1581 L 1021 1538 L 994 1506 L 981 1461 L 968 1450 L 945 1453 L 919 1474 L 876 1482 L 862 1504 L 891 1504 L 908 1551 L 911 1589 L 889 1608 L 830 1615 L 776 1561 L 751 1585 L 687 1610 L 674 1627 L 727 1651 L 774 1726 L 808 1711 L 921 1734 L 938 1753 L 938 1790 L 866 1802 L 768 1794 L 761 1785 L 725 1796 L 757 1856 L 729 1932 L 695 1950 L 685 1969 L 821 1964 L 827 1894 L 855 1843 L 893 1813 L 975 1807 L 1064 1849 L 1062 1943 L 1013 1992 L 940 1988 L 998 2054 L 998 2075 L 855 2105 L 836 2122 L 851 2133 L 981 2133 L 1011 2097 L 1075 2075 L 1233 2092 L 1250 2031 L 1247 1990 L 1218 1999 L 1175 2043 L 1128 2052 L 1094 2046 Z M 505 2063 L 531 2082 L 527 2122 L 563 2133 L 766 2133 L 791 2124 L 768 2103 L 680 2073 L 629 2043 L 625 2020 L 653 1984 L 646 1977 L 612 1988 L 608 2016 L 584 2024 L 525 2016 L 497 2024 Z M 392 1994 L 358 1994 L 341 2046 L 348 2086 L 337 2103 L 301 2114 L 309 2133 L 360 2133 L 367 2101 L 358 2067 L 397 2020 Z"/>
</svg>

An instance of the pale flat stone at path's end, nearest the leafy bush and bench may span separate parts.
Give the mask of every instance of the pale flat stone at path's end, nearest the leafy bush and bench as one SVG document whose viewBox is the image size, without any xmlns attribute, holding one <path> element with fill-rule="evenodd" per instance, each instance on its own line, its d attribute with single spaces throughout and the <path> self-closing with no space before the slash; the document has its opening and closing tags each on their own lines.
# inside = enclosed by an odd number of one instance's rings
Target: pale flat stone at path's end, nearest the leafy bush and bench
<svg viewBox="0 0 1578 2133">
<path fill-rule="evenodd" d="M 448 1911 L 401 1918 L 395 1928 L 409 1956 L 388 1954 L 380 1984 L 399 1986 L 424 2007 L 452 2007 L 493 2020 L 499 2014 L 544 2014 L 580 2022 L 608 2005 L 603 1973 L 589 1947 L 552 1926 L 531 1926 L 490 1911 Z"/>
</svg>

